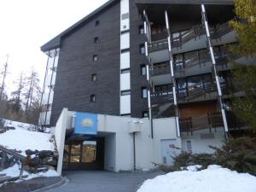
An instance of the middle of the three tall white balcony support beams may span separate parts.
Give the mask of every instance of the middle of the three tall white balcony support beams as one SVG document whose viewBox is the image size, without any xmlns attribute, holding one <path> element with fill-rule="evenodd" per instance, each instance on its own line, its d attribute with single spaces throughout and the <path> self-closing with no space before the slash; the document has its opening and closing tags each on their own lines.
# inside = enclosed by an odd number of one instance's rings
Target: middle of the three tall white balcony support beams
<svg viewBox="0 0 256 192">
<path fill-rule="evenodd" d="M 177 137 L 180 137 L 178 108 L 177 108 L 177 96 L 176 96 L 176 79 L 174 77 L 174 69 L 173 69 L 172 34 L 170 32 L 170 24 L 169 24 L 167 10 L 165 11 L 165 17 L 166 17 L 166 31 L 168 32 L 168 50 L 169 50 L 169 62 L 170 62 L 170 67 L 171 67 L 172 92 L 173 92 L 173 103 L 174 103 L 174 110 L 175 110 L 176 132 L 177 132 Z"/>
</svg>

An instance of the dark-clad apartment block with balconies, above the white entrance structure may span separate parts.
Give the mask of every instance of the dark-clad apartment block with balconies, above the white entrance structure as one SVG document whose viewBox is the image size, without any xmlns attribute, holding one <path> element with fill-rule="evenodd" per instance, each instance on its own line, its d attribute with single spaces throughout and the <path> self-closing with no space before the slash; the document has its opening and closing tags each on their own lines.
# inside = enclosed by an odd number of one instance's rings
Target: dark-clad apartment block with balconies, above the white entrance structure
<svg viewBox="0 0 256 192">
<path fill-rule="evenodd" d="M 221 143 L 246 126 L 229 108 L 232 0 L 110 0 L 41 49 L 48 55 L 42 125 L 62 108 L 131 118 L 174 118 L 184 149 Z M 191 141 L 193 143 L 191 143 Z M 210 142 L 209 142 L 210 141 Z M 194 147 L 195 145 L 195 147 Z"/>
</svg>

